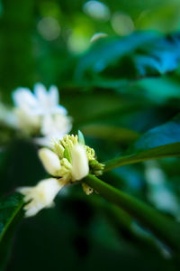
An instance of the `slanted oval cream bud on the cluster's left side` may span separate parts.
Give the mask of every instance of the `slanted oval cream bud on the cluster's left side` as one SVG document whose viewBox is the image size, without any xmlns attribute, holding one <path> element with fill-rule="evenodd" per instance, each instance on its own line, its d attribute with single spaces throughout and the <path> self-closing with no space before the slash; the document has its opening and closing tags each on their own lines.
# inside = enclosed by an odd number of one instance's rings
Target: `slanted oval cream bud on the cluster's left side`
<svg viewBox="0 0 180 271">
<path fill-rule="evenodd" d="M 60 170 L 58 155 L 47 148 L 41 148 L 39 151 L 39 157 L 46 171 L 52 176 L 58 176 L 58 172 Z"/>
</svg>

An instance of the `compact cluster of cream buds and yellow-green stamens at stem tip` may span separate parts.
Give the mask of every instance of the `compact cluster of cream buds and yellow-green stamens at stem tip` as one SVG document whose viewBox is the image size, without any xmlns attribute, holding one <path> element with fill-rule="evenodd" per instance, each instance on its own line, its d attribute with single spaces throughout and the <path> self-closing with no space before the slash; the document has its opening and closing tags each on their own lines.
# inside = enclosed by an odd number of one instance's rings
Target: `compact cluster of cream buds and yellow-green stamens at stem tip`
<svg viewBox="0 0 180 271">
<path fill-rule="evenodd" d="M 103 173 L 103 164 L 96 160 L 94 149 L 85 145 L 81 133 L 65 135 L 63 139 L 54 141 L 51 150 L 41 148 L 39 157 L 50 175 L 67 182 L 80 181 L 88 173 Z"/>
</svg>

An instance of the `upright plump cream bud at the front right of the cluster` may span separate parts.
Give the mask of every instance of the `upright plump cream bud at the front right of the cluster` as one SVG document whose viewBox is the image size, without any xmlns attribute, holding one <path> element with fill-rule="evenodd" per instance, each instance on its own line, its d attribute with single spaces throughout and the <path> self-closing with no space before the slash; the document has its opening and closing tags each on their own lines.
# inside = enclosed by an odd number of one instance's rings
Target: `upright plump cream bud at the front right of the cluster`
<svg viewBox="0 0 180 271">
<path fill-rule="evenodd" d="M 85 147 L 76 144 L 71 150 L 72 180 L 81 180 L 89 173 L 88 159 Z"/>
</svg>

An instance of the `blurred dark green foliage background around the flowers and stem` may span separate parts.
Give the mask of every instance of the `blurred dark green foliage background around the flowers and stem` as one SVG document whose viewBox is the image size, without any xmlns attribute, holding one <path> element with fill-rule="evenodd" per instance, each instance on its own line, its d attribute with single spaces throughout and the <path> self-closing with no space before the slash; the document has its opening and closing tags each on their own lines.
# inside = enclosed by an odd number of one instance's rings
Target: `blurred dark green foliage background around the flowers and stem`
<svg viewBox="0 0 180 271">
<path fill-rule="evenodd" d="M 73 132 L 105 161 L 179 112 L 179 30 L 179 0 L 0 0 L 0 100 L 11 107 L 18 87 L 57 85 Z M 46 176 L 37 147 L 6 136 L 1 195 Z M 128 165 L 103 180 L 179 220 L 178 164 Z M 23 220 L 6 270 L 178 270 L 168 248 L 100 196 L 73 185 L 56 204 Z"/>
</svg>

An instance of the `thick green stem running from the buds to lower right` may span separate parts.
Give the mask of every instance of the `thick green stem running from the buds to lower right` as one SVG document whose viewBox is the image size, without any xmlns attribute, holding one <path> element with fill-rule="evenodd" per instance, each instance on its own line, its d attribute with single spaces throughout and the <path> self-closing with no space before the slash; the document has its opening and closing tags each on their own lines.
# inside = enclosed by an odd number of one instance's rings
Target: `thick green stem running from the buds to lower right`
<svg viewBox="0 0 180 271">
<path fill-rule="evenodd" d="M 168 219 L 165 215 L 154 210 L 148 204 L 138 201 L 132 196 L 117 190 L 111 185 L 102 182 L 94 175 L 87 175 L 84 182 L 91 186 L 96 192 L 108 201 L 126 210 L 130 216 L 138 220 L 142 226 L 145 226 L 157 235 L 171 248 L 180 250 L 180 224 L 174 220 Z"/>
</svg>

